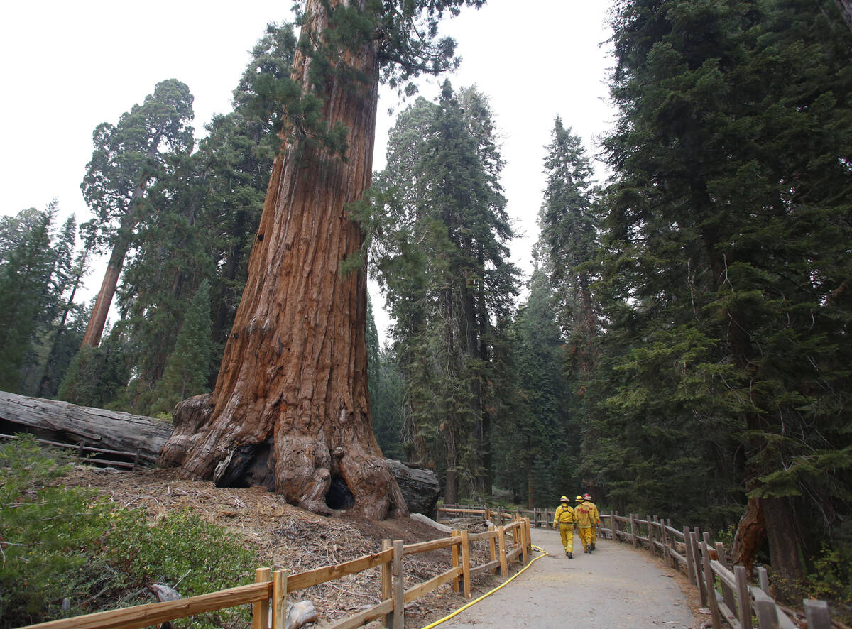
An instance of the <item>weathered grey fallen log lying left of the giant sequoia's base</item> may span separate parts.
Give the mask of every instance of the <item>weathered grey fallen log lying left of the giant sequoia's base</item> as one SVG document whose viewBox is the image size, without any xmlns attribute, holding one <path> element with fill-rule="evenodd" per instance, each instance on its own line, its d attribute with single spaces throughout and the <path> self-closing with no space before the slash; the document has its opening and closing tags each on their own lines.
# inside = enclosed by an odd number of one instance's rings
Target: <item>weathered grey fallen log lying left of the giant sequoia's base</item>
<svg viewBox="0 0 852 629">
<path fill-rule="evenodd" d="M 0 391 L 0 432 L 28 432 L 42 439 L 79 443 L 135 453 L 154 459 L 171 435 L 169 422 L 78 407 L 68 402 L 45 400 Z"/>
</svg>

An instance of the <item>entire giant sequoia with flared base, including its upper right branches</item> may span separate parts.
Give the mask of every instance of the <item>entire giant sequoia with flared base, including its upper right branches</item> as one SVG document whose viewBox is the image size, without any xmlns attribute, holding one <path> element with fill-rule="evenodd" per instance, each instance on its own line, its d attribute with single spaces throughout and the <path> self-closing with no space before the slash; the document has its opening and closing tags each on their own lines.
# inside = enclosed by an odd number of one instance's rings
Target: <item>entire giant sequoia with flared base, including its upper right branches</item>
<svg viewBox="0 0 852 629">
<path fill-rule="evenodd" d="M 398 87 L 453 66 L 438 21 L 482 3 L 308 0 L 216 387 L 176 408 L 162 465 L 223 487 L 263 485 L 317 513 L 406 513 L 371 428 L 363 235 L 346 208 L 370 186 L 379 81 Z"/>
</svg>

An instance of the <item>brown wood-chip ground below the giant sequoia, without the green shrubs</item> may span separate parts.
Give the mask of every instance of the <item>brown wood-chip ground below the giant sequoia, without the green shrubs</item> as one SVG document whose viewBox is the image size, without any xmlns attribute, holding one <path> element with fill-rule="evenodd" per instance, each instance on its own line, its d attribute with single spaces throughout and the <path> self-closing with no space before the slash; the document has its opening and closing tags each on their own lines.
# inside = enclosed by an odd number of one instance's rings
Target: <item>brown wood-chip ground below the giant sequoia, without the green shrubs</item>
<svg viewBox="0 0 852 629">
<path fill-rule="evenodd" d="M 212 482 L 181 479 L 177 470 L 130 472 L 78 465 L 61 482 L 67 487 L 92 488 L 127 509 L 144 508 L 152 522 L 170 511 L 190 509 L 204 520 L 239 535 L 245 547 L 259 557 L 258 567 L 288 568 L 293 573 L 380 551 L 383 539 L 411 544 L 446 537 L 409 518 L 371 522 L 345 512 L 333 517 L 317 516 L 262 488 L 216 488 Z M 481 522 L 469 522 L 469 528 L 471 532 L 485 530 Z M 489 559 L 486 542 L 471 545 L 473 563 L 486 563 Z M 450 566 L 449 549 L 407 556 L 406 589 Z M 293 599 L 312 601 L 322 624 L 324 620 L 344 618 L 379 603 L 379 577 L 380 569 L 373 568 L 295 592 Z M 498 580 L 489 574 L 472 581 L 475 596 L 497 584 Z M 406 627 L 427 625 L 467 602 L 450 586 L 442 586 L 406 604 Z"/>
</svg>

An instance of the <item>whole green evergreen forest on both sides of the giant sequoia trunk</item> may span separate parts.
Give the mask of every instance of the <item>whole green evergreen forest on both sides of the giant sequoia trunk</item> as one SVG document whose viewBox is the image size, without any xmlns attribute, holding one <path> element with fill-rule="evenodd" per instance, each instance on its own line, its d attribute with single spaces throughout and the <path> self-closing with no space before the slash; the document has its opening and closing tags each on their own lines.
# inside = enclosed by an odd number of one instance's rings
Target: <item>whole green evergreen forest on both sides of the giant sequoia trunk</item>
<svg viewBox="0 0 852 629">
<path fill-rule="evenodd" d="M 406 93 L 458 61 L 440 18 L 481 4 L 352 3 L 313 42 L 308 14 L 270 24 L 204 134 L 174 78 L 98 125 L 95 218 L 58 224 L 51 204 L 0 221 L 0 388 L 163 417 L 214 391 L 282 147 L 366 151 L 322 113 L 330 81 L 369 83 L 338 61 L 380 40 L 377 80 Z M 730 531 L 736 560 L 791 582 L 837 557 L 849 582 L 852 32 L 833 0 L 619 0 L 610 26 L 616 120 L 584 147 L 566 103 L 540 138 L 526 277 L 509 130 L 475 86 L 411 95 L 387 165 L 347 197 L 355 244 L 328 274 L 371 273 L 393 321 L 379 338 L 355 304 L 378 446 L 435 470 L 448 502 L 588 491 Z M 108 327 L 103 303 L 75 301 L 92 251 L 111 253 Z"/>
</svg>

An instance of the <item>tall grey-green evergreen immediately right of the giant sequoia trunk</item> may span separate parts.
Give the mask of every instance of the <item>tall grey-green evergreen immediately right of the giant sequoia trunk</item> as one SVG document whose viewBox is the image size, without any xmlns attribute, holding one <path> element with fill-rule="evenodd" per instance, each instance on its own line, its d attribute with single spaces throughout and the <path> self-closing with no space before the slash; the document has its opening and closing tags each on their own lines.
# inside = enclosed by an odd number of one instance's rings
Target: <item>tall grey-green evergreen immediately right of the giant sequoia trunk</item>
<svg viewBox="0 0 852 629">
<path fill-rule="evenodd" d="M 516 292 L 491 118 L 482 95 L 449 83 L 436 105 L 400 115 L 377 184 L 386 216 L 371 227 L 408 386 L 408 456 L 437 466 L 448 501 L 491 491 L 492 324 Z"/>
</svg>

